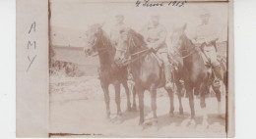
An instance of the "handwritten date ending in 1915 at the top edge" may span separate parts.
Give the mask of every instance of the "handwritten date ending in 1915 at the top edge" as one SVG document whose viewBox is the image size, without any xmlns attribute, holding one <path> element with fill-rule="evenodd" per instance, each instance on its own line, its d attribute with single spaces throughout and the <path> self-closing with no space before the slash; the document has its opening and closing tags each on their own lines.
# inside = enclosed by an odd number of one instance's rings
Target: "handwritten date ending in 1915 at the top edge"
<svg viewBox="0 0 256 139">
<path fill-rule="evenodd" d="M 152 0 L 137 0 L 135 5 L 136 7 L 162 7 L 162 6 L 172 6 L 172 7 L 184 7 L 187 1 L 152 1 Z"/>
</svg>

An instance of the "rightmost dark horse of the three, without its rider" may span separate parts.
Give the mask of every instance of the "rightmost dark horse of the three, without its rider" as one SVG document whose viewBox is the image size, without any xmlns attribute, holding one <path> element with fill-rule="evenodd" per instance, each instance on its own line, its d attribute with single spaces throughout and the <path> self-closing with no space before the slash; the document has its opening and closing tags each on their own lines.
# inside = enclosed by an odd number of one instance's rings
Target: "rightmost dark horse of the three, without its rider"
<svg viewBox="0 0 256 139">
<path fill-rule="evenodd" d="M 180 28 L 175 28 L 171 36 L 172 46 L 178 48 L 182 58 L 183 58 L 183 75 L 185 88 L 187 95 L 189 97 L 189 105 L 191 110 L 191 118 L 194 122 L 195 110 L 194 110 L 194 93 L 198 92 L 200 95 L 200 106 L 203 110 L 203 125 L 208 126 L 207 113 L 206 113 L 206 102 L 205 96 L 209 93 L 210 86 L 213 87 L 216 97 L 218 100 L 218 111 L 221 113 L 221 91 L 219 88 L 214 87 L 213 84 L 213 72 L 209 71 L 211 68 L 207 67 L 201 58 L 199 52 L 201 50 L 197 49 L 190 39 L 186 36 L 184 30 L 186 29 L 186 24 Z M 224 72 L 226 77 L 226 72 Z M 226 79 L 224 79 L 224 85 L 226 88 Z"/>
</svg>

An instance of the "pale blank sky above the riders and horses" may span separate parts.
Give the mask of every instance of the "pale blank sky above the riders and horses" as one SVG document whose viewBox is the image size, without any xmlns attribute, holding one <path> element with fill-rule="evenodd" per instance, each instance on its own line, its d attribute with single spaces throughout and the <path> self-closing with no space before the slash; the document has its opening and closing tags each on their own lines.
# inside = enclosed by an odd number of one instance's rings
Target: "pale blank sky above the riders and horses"
<svg viewBox="0 0 256 139">
<path fill-rule="evenodd" d="M 210 23 L 215 24 L 220 32 L 220 41 L 227 36 L 226 3 L 186 3 L 184 7 L 136 7 L 133 2 L 97 2 L 89 0 L 51 0 L 51 39 L 53 45 L 83 47 L 85 31 L 90 24 L 103 23 L 103 29 L 109 33 L 115 24 L 114 16 L 121 14 L 124 23 L 139 31 L 150 21 L 151 15 L 160 15 L 160 23 L 168 32 L 173 26 L 187 23 L 187 34 L 193 35 L 201 23 L 200 14 L 211 13 Z M 168 37 L 168 36 L 167 36 Z M 166 40 L 167 41 L 167 40 Z"/>
</svg>

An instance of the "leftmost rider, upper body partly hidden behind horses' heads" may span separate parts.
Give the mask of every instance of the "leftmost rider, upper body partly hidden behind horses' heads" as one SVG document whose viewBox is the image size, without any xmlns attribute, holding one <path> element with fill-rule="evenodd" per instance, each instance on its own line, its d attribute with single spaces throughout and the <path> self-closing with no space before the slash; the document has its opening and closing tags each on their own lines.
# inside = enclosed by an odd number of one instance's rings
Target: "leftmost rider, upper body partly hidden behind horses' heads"
<svg viewBox="0 0 256 139">
<path fill-rule="evenodd" d="M 120 36 L 120 30 L 127 28 L 127 25 L 124 23 L 123 15 L 116 15 L 115 20 L 116 20 L 116 24 L 110 31 L 110 40 L 114 47 L 117 45 L 118 38 Z"/>
</svg>

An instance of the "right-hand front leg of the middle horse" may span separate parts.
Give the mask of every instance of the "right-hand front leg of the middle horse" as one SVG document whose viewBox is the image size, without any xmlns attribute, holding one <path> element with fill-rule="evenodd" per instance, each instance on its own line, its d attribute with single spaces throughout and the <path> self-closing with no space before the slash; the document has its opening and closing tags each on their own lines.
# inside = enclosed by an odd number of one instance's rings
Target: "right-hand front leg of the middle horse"
<svg viewBox="0 0 256 139">
<path fill-rule="evenodd" d="M 155 85 L 151 87 L 151 107 L 153 111 L 153 125 L 157 125 L 158 116 L 157 116 L 157 89 Z"/>
</svg>

